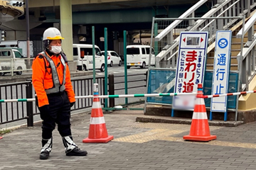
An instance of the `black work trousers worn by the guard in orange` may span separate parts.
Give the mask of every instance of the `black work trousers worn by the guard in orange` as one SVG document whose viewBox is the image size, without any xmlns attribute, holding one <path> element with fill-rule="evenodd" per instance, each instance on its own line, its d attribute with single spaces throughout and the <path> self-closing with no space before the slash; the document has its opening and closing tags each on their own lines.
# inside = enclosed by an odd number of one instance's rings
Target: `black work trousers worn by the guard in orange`
<svg viewBox="0 0 256 170">
<path fill-rule="evenodd" d="M 58 132 L 62 137 L 71 136 L 70 101 L 67 93 L 64 91 L 58 94 L 48 94 L 47 96 L 50 111 L 43 113 L 39 108 L 40 116 L 43 120 L 42 138 L 47 140 L 52 137 L 55 123 L 58 124 Z"/>
</svg>

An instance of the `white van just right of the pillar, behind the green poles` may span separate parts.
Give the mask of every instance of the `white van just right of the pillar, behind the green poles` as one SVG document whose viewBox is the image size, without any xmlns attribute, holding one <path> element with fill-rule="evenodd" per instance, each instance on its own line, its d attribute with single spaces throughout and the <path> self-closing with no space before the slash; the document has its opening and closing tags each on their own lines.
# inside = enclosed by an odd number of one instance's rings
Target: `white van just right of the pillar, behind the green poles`
<svg viewBox="0 0 256 170">
<path fill-rule="evenodd" d="M 77 62 L 78 70 L 93 69 L 92 45 L 73 44 L 73 60 Z M 105 57 L 97 45 L 95 45 L 95 69 L 100 69 L 101 72 L 105 71 Z"/>
</svg>

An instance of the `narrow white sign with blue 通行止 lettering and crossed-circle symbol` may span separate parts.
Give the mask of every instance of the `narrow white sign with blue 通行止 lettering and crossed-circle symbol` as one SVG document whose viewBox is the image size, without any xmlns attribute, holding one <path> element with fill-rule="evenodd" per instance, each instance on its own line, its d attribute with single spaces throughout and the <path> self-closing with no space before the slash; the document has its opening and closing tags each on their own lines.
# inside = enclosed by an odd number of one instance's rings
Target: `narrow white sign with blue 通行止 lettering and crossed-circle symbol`
<svg viewBox="0 0 256 170">
<path fill-rule="evenodd" d="M 212 94 L 228 93 L 231 38 L 231 30 L 218 30 L 216 33 Z M 227 98 L 228 96 L 212 98 L 210 103 L 210 111 L 226 112 Z"/>
</svg>

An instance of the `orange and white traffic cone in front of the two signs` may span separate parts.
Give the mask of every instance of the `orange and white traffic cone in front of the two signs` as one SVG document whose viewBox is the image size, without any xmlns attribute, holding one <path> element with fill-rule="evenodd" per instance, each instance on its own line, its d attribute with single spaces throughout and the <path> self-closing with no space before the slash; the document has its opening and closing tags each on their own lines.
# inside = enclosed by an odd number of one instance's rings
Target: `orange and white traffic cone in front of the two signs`
<svg viewBox="0 0 256 170">
<path fill-rule="evenodd" d="M 196 95 L 191 131 L 189 135 L 183 136 L 183 140 L 210 141 L 216 138 L 215 135 L 210 135 L 206 105 L 203 98 L 203 86 L 202 84 L 198 84 L 198 94 Z"/>
</svg>

